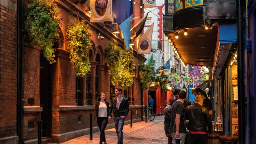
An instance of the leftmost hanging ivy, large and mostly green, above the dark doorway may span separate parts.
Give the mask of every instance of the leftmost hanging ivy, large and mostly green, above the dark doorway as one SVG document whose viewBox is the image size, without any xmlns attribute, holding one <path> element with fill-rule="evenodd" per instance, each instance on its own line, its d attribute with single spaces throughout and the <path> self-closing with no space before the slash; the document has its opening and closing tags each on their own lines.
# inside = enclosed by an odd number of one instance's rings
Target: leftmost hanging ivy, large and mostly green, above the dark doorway
<svg viewBox="0 0 256 144">
<path fill-rule="evenodd" d="M 31 44 L 41 47 L 44 57 L 50 64 L 55 62 L 55 49 L 52 47 L 59 36 L 58 14 L 59 8 L 52 0 L 31 0 L 25 12 L 25 28 L 31 38 Z"/>
</svg>

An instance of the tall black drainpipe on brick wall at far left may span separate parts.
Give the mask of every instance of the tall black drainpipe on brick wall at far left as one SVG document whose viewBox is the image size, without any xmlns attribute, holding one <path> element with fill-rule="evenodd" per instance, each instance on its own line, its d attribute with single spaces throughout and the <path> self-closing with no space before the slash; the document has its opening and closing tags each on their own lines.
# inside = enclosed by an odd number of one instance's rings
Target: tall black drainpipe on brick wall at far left
<svg viewBox="0 0 256 144">
<path fill-rule="evenodd" d="M 16 131 L 19 144 L 22 143 L 22 6 L 23 0 L 17 1 L 17 104 Z"/>
</svg>

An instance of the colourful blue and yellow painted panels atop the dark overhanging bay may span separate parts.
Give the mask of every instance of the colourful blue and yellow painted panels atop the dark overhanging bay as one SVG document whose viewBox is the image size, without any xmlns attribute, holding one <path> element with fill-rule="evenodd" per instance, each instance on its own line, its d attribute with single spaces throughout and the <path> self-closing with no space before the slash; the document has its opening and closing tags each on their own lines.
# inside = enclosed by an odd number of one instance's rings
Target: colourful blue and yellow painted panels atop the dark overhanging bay
<svg viewBox="0 0 256 144">
<path fill-rule="evenodd" d="M 183 9 L 194 6 L 202 6 L 203 0 L 175 0 L 176 12 Z"/>
</svg>

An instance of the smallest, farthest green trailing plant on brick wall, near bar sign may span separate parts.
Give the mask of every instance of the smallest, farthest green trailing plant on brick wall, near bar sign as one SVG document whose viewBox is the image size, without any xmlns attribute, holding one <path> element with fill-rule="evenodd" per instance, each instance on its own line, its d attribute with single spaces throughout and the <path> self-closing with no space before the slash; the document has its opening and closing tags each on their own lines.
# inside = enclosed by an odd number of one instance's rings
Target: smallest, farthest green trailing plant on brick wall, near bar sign
<svg viewBox="0 0 256 144">
<path fill-rule="evenodd" d="M 151 67 L 148 64 L 145 64 L 143 61 L 141 61 L 139 66 L 139 77 L 140 82 L 142 83 L 143 91 L 148 90 L 149 83 L 151 82 L 151 75 Z"/>
</svg>

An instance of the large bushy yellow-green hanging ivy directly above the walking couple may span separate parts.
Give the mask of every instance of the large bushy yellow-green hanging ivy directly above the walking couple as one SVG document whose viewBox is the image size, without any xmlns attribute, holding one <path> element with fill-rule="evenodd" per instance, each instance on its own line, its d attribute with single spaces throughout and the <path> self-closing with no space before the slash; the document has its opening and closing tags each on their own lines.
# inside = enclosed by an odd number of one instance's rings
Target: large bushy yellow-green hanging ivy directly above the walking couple
<svg viewBox="0 0 256 144">
<path fill-rule="evenodd" d="M 109 74 L 112 76 L 111 82 L 114 85 L 121 82 L 123 89 L 132 85 L 135 74 L 134 57 L 113 40 L 108 43 L 106 48 L 106 64 L 109 68 Z"/>
</svg>

